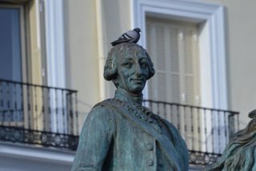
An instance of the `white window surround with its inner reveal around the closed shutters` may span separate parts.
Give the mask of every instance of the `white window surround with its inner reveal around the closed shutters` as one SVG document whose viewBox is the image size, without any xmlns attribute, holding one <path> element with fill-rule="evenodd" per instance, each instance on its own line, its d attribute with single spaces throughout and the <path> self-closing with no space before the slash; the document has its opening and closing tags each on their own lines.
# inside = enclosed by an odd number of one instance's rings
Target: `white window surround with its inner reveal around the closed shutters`
<svg viewBox="0 0 256 171">
<path fill-rule="evenodd" d="M 200 101 L 203 106 L 228 109 L 224 7 L 216 3 L 189 0 L 133 0 L 132 6 L 133 27 L 140 27 L 142 30 L 142 38 L 138 44 L 145 48 L 146 16 L 200 23 L 199 29 L 204 36 L 199 38 L 199 42 L 203 41 L 206 45 L 199 44 L 199 48 L 207 46 L 207 50 L 199 52 L 200 56 L 206 57 L 200 58 Z M 147 91 L 146 86 L 145 97 Z"/>
</svg>

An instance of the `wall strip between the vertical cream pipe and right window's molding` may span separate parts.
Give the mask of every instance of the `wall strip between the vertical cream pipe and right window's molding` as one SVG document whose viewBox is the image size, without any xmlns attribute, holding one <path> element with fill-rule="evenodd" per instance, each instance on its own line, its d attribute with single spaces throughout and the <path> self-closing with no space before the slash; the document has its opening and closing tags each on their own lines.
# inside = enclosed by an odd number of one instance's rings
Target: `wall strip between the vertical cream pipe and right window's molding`
<svg viewBox="0 0 256 171">
<path fill-rule="evenodd" d="M 102 47 L 103 58 L 111 49 L 110 42 L 116 40 L 123 32 L 131 30 L 130 0 L 98 0 L 102 5 Z M 103 77 L 102 77 L 103 79 Z M 114 96 L 114 84 L 105 83 L 105 98 Z"/>
</svg>

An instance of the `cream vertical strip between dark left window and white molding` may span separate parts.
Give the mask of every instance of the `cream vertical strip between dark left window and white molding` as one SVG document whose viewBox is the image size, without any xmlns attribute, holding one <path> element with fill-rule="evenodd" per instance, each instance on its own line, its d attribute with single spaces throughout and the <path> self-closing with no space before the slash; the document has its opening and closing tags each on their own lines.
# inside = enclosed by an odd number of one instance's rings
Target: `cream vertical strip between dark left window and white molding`
<svg viewBox="0 0 256 171">
<path fill-rule="evenodd" d="M 23 78 L 23 81 L 42 85 L 42 48 L 38 45 L 38 41 L 40 40 L 40 38 L 38 38 L 39 28 L 37 25 L 38 4 L 36 3 L 35 0 L 32 0 L 26 3 L 25 10 L 26 10 L 26 18 L 28 18 L 28 20 L 26 21 L 26 26 L 28 27 L 28 29 L 26 30 L 26 34 L 27 34 L 26 38 L 29 38 L 26 44 L 27 45 L 26 52 L 27 52 L 27 57 L 30 57 L 30 58 L 26 58 L 27 60 L 26 67 L 29 69 L 29 75 L 28 75 L 28 78 L 26 78 L 26 80 L 24 80 Z M 24 73 L 26 73 L 26 71 Z M 33 118 L 32 128 L 34 127 L 34 129 L 42 129 L 43 116 L 42 116 L 42 113 L 40 112 L 42 111 L 42 89 L 31 87 L 30 93 L 32 94 L 31 95 L 32 98 L 29 100 L 32 100 L 32 103 L 38 106 L 37 110 L 32 108 L 33 113 L 31 113 L 31 116 L 30 116 Z M 24 109 L 26 111 L 26 107 Z M 28 123 L 25 119 L 25 126 L 28 126 L 27 124 Z M 36 128 L 36 125 L 37 125 L 37 128 Z"/>
</svg>

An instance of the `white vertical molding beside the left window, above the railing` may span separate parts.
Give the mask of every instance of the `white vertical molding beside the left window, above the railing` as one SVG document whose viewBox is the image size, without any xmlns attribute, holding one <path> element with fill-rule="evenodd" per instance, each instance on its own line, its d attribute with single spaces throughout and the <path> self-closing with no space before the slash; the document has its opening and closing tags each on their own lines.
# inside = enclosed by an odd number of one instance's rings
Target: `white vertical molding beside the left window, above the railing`
<svg viewBox="0 0 256 171">
<path fill-rule="evenodd" d="M 46 0 L 46 58 L 48 85 L 65 88 L 62 0 Z"/>
</svg>

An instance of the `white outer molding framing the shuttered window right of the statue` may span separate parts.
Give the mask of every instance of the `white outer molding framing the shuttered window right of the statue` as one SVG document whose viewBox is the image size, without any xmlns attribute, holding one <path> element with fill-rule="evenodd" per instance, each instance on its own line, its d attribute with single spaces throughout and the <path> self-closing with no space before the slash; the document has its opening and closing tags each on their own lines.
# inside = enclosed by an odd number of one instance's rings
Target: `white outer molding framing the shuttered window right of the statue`
<svg viewBox="0 0 256 171">
<path fill-rule="evenodd" d="M 133 0 L 133 26 L 140 27 L 138 44 L 146 48 L 146 15 L 209 24 L 212 106 L 227 109 L 226 47 L 223 6 L 190 0 Z M 205 68 L 206 69 L 206 68 Z"/>
</svg>

